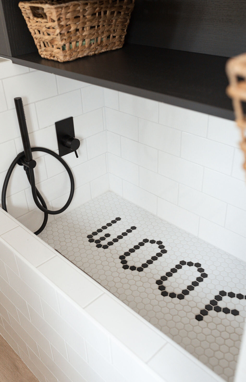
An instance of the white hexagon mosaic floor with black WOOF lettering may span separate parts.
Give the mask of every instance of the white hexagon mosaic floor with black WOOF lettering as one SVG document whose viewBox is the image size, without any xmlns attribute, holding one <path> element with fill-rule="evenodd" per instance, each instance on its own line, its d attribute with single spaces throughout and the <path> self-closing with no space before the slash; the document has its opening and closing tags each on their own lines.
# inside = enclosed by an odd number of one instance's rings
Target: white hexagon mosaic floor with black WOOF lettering
<svg viewBox="0 0 246 382">
<path fill-rule="evenodd" d="M 112 192 L 39 235 L 232 382 L 246 316 L 246 263 Z"/>
</svg>

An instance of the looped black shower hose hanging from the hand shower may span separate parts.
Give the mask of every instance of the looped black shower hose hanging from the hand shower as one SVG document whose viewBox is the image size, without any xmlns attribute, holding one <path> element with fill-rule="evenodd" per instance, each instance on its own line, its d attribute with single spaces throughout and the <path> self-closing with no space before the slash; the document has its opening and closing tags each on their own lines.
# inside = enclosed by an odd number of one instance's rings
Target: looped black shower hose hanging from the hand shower
<svg viewBox="0 0 246 382">
<path fill-rule="evenodd" d="M 40 192 L 38 191 L 36 185 L 35 185 L 35 176 L 34 176 L 34 169 L 33 168 L 29 168 L 27 166 L 24 165 L 24 170 L 26 171 L 26 175 L 27 175 L 27 179 L 31 185 L 31 188 L 32 188 L 32 196 L 33 196 L 33 199 L 34 199 L 34 202 L 36 204 L 36 206 L 44 212 L 44 219 L 43 219 L 43 223 L 41 225 L 41 227 L 35 231 L 35 235 L 38 235 L 40 232 L 43 231 L 43 229 L 45 228 L 47 222 L 48 222 L 48 215 L 57 215 L 57 214 L 61 214 L 62 212 L 65 211 L 65 209 L 67 209 L 67 207 L 69 206 L 69 204 L 72 202 L 72 198 L 73 198 L 73 194 L 74 194 L 74 178 L 73 178 L 73 174 L 72 174 L 72 171 L 69 167 L 69 165 L 67 165 L 67 163 L 65 162 L 64 159 L 62 159 L 58 154 L 56 154 L 54 151 L 51 151 L 49 149 L 45 149 L 44 147 L 32 147 L 31 148 L 31 151 L 34 152 L 34 151 L 42 151 L 42 152 L 46 152 L 47 154 L 50 154 L 52 155 L 53 157 L 55 157 L 57 160 L 59 160 L 59 162 L 65 167 L 65 169 L 67 170 L 67 173 L 69 175 L 69 179 L 70 179 L 70 183 L 71 183 L 71 189 L 70 189 L 70 194 L 69 194 L 69 198 L 67 199 L 67 202 L 66 204 L 59 210 L 56 210 L 56 211 L 52 211 L 52 210 L 48 210 L 47 209 L 47 206 L 46 206 L 46 203 L 42 197 L 42 195 L 40 194 Z M 10 180 L 10 176 L 14 170 L 14 167 L 16 164 L 20 164 L 20 159 L 23 158 L 25 160 L 25 154 L 24 154 L 24 151 L 20 152 L 17 157 L 13 160 L 13 162 L 11 163 L 10 165 L 10 168 L 8 169 L 8 172 L 5 176 L 5 180 L 3 182 L 3 189 L 2 189 L 2 208 L 3 210 L 5 210 L 6 212 L 7 211 L 7 207 L 6 207 L 6 191 L 7 191 L 7 187 L 8 187 L 8 182 Z M 40 202 L 38 201 L 38 199 L 40 200 Z"/>
</svg>

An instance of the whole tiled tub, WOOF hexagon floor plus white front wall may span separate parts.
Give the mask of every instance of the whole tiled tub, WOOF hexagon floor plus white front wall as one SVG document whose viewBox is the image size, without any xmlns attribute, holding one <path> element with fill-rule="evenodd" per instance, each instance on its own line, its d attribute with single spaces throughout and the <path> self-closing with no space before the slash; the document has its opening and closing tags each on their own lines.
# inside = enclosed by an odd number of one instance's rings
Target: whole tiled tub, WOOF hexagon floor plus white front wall
<svg viewBox="0 0 246 382">
<path fill-rule="evenodd" d="M 242 261 L 113 193 L 48 224 L 64 256 L 0 219 L 0 333 L 40 382 L 233 380 Z"/>
</svg>

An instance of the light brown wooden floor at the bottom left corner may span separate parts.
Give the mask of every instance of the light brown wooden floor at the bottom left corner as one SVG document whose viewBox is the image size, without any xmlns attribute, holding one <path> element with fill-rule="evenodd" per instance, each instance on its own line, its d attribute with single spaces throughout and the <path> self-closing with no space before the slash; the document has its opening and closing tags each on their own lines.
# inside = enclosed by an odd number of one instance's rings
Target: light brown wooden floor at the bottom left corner
<svg viewBox="0 0 246 382">
<path fill-rule="evenodd" d="M 38 379 L 1 335 L 0 382 L 38 382 Z"/>
</svg>

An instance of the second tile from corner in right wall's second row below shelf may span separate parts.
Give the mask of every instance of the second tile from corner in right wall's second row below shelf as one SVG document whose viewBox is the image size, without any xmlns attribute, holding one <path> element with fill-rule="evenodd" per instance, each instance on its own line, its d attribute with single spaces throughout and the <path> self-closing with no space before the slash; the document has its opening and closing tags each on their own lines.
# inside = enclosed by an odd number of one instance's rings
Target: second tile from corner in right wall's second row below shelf
<svg viewBox="0 0 246 382">
<path fill-rule="evenodd" d="M 139 142 L 179 156 L 181 132 L 139 118 Z"/>
</svg>

